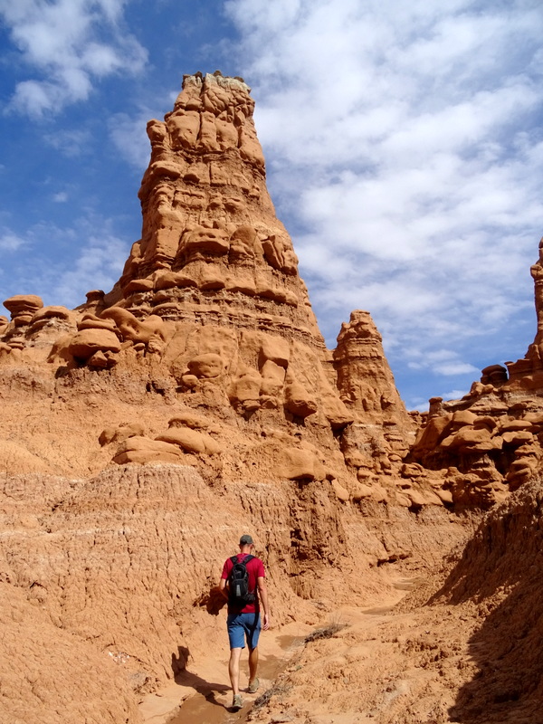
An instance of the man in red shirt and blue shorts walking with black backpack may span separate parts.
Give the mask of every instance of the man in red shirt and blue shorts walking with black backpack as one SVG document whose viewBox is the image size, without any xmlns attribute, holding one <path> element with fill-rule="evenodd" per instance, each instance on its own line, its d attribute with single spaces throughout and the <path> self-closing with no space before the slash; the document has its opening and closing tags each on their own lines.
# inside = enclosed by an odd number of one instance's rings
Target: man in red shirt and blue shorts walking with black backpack
<svg viewBox="0 0 543 724">
<path fill-rule="evenodd" d="M 249 687 L 247 691 L 253 694 L 258 691 L 259 687 L 259 681 L 256 678 L 258 638 L 261 627 L 266 631 L 270 626 L 264 565 L 260 558 L 252 555 L 252 548 L 254 548 L 254 543 L 251 536 L 243 535 L 240 538 L 240 552 L 224 561 L 220 583 L 220 589 L 228 599 L 228 616 L 226 618 L 230 640 L 228 673 L 232 684 L 232 709 L 234 711 L 243 707 L 240 694 L 240 659 L 242 649 L 245 648 L 245 640 L 249 648 Z"/>
</svg>

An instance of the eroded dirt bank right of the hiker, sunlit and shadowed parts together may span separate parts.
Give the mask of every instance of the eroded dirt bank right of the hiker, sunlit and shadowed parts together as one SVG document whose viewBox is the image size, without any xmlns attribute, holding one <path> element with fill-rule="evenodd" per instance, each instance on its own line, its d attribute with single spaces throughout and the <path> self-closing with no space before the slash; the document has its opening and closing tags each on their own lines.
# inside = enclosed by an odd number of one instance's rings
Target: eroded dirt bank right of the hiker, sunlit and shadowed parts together
<svg viewBox="0 0 543 724">
<path fill-rule="evenodd" d="M 539 721 L 542 500 L 541 481 L 514 493 L 399 605 L 340 607 L 329 635 L 305 643 L 251 720 Z"/>
</svg>

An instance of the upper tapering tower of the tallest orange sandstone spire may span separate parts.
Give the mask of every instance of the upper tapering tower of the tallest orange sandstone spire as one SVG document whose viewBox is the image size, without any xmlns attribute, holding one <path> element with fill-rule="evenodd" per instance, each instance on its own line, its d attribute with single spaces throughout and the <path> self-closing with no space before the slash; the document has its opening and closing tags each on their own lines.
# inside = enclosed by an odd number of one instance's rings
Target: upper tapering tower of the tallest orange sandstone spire
<svg viewBox="0 0 543 724">
<path fill-rule="evenodd" d="M 142 237 L 113 298 L 137 316 L 288 330 L 322 348 L 291 238 L 266 189 L 253 106 L 241 79 L 196 74 L 185 77 L 164 121 L 149 121 Z"/>
</svg>

